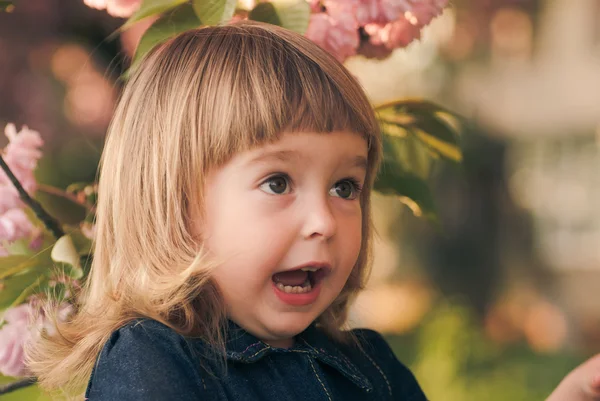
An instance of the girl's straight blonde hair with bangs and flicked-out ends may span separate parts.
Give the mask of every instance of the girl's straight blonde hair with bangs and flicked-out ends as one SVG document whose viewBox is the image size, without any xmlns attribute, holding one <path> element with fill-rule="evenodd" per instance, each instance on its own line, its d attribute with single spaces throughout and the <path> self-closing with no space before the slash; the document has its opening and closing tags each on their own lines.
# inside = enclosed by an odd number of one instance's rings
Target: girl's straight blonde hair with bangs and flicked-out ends
<svg viewBox="0 0 600 401">
<path fill-rule="evenodd" d="M 138 317 L 224 348 L 215 267 L 192 232 L 207 171 L 284 132 L 351 131 L 369 143 L 362 248 L 317 323 L 338 341 L 370 266 L 370 192 L 381 154 L 373 109 L 355 78 L 305 37 L 239 22 L 157 46 L 127 82 L 101 159 L 96 239 L 77 312 L 27 349 L 47 389 L 82 391 L 111 333 Z"/>
</svg>

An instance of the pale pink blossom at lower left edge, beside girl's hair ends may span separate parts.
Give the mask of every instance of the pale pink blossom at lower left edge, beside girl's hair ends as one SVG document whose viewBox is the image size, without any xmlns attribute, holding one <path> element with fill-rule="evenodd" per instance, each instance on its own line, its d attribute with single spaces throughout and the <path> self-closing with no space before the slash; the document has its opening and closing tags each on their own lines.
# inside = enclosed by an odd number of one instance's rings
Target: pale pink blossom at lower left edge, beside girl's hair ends
<svg viewBox="0 0 600 401">
<path fill-rule="evenodd" d="M 19 305 L 4 313 L 6 324 L 0 329 L 0 373 L 27 376 L 23 347 L 31 338 L 32 308 Z"/>
</svg>

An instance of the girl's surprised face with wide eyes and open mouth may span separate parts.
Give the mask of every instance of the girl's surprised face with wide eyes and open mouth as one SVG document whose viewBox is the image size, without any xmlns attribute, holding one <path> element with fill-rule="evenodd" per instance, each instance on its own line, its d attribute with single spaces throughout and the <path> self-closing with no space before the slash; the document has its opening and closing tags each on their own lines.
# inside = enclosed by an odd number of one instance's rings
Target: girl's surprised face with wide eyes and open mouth
<svg viewBox="0 0 600 401">
<path fill-rule="evenodd" d="M 231 320 L 289 347 L 334 301 L 360 252 L 366 166 L 358 134 L 293 133 L 208 175 L 198 230 Z"/>
</svg>

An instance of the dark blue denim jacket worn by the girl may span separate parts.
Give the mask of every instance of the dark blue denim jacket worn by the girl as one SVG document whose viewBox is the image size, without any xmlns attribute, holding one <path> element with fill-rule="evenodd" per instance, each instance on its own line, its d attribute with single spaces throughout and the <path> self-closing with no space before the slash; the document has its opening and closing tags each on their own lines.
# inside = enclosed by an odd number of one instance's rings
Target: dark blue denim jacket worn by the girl
<svg viewBox="0 0 600 401">
<path fill-rule="evenodd" d="M 314 324 L 284 349 L 228 324 L 227 374 L 214 375 L 201 367 L 210 366 L 198 356 L 207 347 L 201 340 L 154 320 L 130 322 L 104 345 L 86 399 L 426 401 L 412 373 L 373 330 L 354 331 L 364 352 L 340 346 Z"/>
</svg>

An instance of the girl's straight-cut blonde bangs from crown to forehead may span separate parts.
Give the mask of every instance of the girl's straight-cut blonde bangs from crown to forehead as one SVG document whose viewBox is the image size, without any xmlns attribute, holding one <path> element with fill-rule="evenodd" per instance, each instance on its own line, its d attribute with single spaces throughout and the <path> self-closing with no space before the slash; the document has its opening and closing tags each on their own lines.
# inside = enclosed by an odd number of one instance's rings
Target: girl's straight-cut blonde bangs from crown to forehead
<svg viewBox="0 0 600 401">
<path fill-rule="evenodd" d="M 345 68 L 306 38 L 274 40 L 268 28 L 252 28 L 246 21 L 175 39 L 203 55 L 194 98 L 205 99 L 197 110 L 205 168 L 284 133 L 350 131 L 377 140 L 370 103 Z"/>
</svg>

